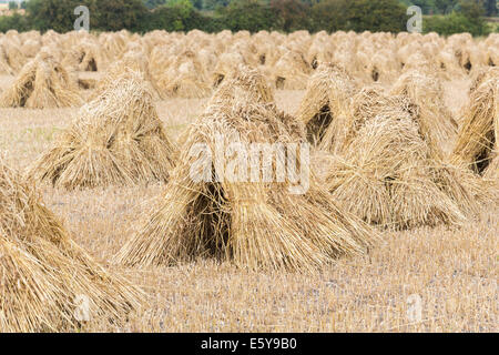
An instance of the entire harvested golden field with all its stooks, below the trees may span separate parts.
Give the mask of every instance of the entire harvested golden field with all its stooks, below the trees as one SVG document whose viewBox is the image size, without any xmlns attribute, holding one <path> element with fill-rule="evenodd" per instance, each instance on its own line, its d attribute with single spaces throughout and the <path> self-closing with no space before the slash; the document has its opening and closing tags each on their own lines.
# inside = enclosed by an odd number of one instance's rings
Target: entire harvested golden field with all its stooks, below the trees
<svg viewBox="0 0 499 355">
<path fill-rule="evenodd" d="M 497 36 L 9 38 L 0 332 L 499 331 Z"/>
</svg>

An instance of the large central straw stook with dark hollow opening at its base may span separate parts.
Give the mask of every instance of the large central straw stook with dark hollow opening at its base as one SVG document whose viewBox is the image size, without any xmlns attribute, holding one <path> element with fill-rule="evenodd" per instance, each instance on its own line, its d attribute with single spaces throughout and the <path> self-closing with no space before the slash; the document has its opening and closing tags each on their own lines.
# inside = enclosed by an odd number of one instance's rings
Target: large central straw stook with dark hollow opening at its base
<svg viewBox="0 0 499 355">
<path fill-rule="evenodd" d="M 240 68 L 190 129 L 160 206 L 145 215 L 145 225 L 115 261 L 143 266 L 210 256 L 251 270 L 312 271 L 340 255 L 365 252 L 377 234 L 340 211 L 313 173 L 303 194 L 289 192 L 296 187 L 292 179 L 262 182 L 261 165 L 248 182 L 225 179 L 224 171 L 231 169 L 225 161 L 211 162 L 203 170 L 204 181 L 191 175 L 197 161 L 192 152 L 200 143 L 216 152 L 234 143 L 305 142 L 303 124 L 277 111 L 259 72 Z M 297 169 L 306 169 L 299 156 Z M 265 164 L 277 174 L 283 160 L 275 154 Z M 241 165 L 235 172 L 249 174 Z"/>
</svg>

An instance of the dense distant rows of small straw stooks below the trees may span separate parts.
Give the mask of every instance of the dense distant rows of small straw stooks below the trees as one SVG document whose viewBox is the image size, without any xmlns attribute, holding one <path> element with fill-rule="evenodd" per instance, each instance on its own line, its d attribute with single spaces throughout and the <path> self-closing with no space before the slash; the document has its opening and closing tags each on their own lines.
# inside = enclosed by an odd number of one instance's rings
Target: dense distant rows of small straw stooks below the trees
<svg viewBox="0 0 499 355">
<path fill-rule="evenodd" d="M 203 98 L 210 97 L 241 64 L 258 68 L 268 85 L 291 90 L 305 89 L 308 78 L 324 62 L 344 67 L 364 84 L 390 83 L 421 67 L 444 79 L 466 77 L 499 65 L 499 34 L 473 40 L 469 34 L 445 39 L 436 33 L 319 32 L 310 36 L 301 31 L 285 36 L 262 31 L 251 36 L 228 31 L 217 34 L 155 31 L 141 37 L 125 31 L 99 36 L 9 31 L 0 37 L 0 73 L 18 77 L 17 91 L 4 93 L 0 105 L 80 104 L 78 88 L 93 88 L 96 82 L 94 77 L 82 73 L 103 73 L 116 62 L 143 71 L 156 98 Z M 47 67 L 58 68 L 61 78 L 49 77 Z M 40 85 L 72 88 L 74 94 L 51 100 L 50 93 L 37 90 L 35 78 Z M 21 90 L 23 95 L 19 98 Z M 35 98 L 31 99 L 31 94 Z"/>
</svg>

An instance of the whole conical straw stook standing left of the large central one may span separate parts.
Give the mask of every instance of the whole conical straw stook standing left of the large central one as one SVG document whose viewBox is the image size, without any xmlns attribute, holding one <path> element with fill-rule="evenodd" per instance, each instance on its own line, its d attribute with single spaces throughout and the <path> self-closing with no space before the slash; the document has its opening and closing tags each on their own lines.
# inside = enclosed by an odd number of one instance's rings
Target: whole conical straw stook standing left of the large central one
<svg viewBox="0 0 499 355">
<path fill-rule="evenodd" d="M 173 153 L 143 77 L 126 71 L 80 109 L 31 173 L 69 190 L 166 181 Z"/>
</svg>

